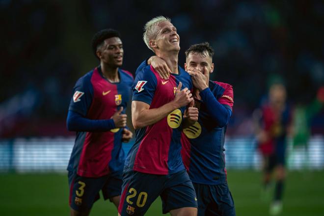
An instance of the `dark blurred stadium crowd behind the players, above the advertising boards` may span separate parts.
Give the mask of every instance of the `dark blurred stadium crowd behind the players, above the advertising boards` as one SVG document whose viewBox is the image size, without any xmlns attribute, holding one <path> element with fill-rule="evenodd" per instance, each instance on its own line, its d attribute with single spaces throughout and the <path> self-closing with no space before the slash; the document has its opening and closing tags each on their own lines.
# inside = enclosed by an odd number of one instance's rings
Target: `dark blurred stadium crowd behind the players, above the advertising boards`
<svg viewBox="0 0 324 216">
<path fill-rule="evenodd" d="M 234 86 L 227 135 L 251 135 L 251 113 L 272 81 L 283 82 L 288 101 L 309 104 L 324 85 L 324 2 L 226 0 L 1 0 L 0 137 L 73 135 L 65 119 L 76 80 L 99 62 L 90 40 L 99 29 L 122 34 L 123 67 L 135 73 L 152 55 L 142 41 L 145 22 L 171 18 L 181 39 L 179 63 L 189 45 L 215 49 L 211 79 Z M 312 119 L 324 131 L 324 110 Z"/>
</svg>

